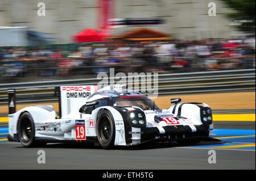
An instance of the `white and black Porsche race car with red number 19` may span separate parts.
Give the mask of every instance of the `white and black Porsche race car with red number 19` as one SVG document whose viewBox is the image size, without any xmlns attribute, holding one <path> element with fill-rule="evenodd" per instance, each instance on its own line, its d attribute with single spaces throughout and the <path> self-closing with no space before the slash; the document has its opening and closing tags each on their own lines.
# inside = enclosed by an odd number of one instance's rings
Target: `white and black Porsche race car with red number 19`
<svg viewBox="0 0 256 181">
<path fill-rule="evenodd" d="M 59 116 L 52 106 L 30 106 L 12 112 L 15 94 L 9 91 L 9 141 L 25 147 L 48 142 L 98 142 L 104 149 L 151 141 L 210 140 L 212 111 L 204 103 L 180 103 L 166 110 L 146 95 L 114 85 L 61 86 Z"/>
</svg>

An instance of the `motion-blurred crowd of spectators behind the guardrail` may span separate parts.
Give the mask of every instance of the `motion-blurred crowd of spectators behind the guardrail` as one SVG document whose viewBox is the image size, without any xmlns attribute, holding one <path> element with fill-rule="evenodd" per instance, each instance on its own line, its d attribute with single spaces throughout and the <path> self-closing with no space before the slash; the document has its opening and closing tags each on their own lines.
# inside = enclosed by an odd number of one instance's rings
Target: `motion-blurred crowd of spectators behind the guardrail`
<svg viewBox="0 0 256 181">
<path fill-rule="evenodd" d="M 0 48 L 0 76 L 71 77 L 255 68 L 255 39 L 77 44 L 75 49 Z"/>
</svg>

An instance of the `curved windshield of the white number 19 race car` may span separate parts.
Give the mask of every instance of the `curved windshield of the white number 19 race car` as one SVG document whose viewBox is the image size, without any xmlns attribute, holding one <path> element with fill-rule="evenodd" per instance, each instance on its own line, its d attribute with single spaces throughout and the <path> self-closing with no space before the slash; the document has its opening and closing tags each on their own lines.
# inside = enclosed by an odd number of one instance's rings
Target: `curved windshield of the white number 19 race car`
<svg viewBox="0 0 256 181">
<path fill-rule="evenodd" d="M 137 106 L 142 108 L 142 110 L 159 110 L 158 106 L 144 95 L 119 96 L 115 99 L 114 106 Z"/>
</svg>

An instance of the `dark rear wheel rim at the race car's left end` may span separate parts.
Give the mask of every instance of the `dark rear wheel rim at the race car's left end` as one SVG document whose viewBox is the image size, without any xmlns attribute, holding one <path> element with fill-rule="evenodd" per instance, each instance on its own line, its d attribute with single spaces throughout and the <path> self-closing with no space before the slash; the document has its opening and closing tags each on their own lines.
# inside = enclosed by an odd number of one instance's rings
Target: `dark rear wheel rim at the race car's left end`
<svg viewBox="0 0 256 181">
<path fill-rule="evenodd" d="M 23 142 L 28 142 L 32 137 L 32 124 L 29 117 L 24 117 L 21 123 L 21 138 Z"/>
</svg>

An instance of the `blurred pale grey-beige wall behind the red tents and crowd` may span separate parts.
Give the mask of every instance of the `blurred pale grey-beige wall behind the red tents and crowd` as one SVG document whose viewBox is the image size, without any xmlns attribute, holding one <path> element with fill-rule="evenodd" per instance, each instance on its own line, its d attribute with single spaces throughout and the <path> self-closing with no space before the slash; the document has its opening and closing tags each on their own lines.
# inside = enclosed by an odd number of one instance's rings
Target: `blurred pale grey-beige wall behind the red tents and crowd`
<svg viewBox="0 0 256 181">
<path fill-rule="evenodd" d="M 0 26 L 27 26 L 31 30 L 51 33 L 58 43 L 70 43 L 71 36 L 83 28 L 97 28 L 98 0 L 1 0 Z M 228 9 L 221 1 L 217 15 L 208 16 L 211 0 L 114 0 L 115 18 L 149 18 L 162 16 L 166 24 L 156 28 L 179 39 L 205 37 L 230 38 L 236 35 L 224 16 Z M 46 16 L 38 16 L 38 3 L 46 4 Z M 117 35 L 130 28 L 115 29 Z"/>
</svg>

